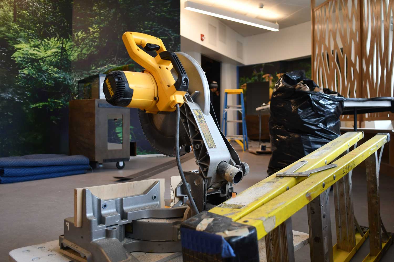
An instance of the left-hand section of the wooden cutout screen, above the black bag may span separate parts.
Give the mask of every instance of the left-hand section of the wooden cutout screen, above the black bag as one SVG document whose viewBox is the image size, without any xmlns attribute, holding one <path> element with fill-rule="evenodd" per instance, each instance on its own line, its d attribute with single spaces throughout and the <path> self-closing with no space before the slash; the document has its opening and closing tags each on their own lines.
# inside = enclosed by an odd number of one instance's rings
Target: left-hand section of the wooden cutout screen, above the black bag
<svg viewBox="0 0 394 262">
<path fill-rule="evenodd" d="M 350 8 L 348 8 L 350 5 Z M 314 80 L 345 97 L 360 97 L 360 6 L 333 0 L 314 10 Z"/>
</svg>

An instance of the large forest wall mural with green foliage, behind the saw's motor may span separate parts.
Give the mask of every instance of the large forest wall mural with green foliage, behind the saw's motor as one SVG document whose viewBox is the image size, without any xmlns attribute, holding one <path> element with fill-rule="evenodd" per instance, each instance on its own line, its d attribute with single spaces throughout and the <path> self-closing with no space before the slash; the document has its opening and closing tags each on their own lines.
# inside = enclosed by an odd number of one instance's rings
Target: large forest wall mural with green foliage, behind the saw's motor
<svg viewBox="0 0 394 262">
<path fill-rule="evenodd" d="M 2 0 L 0 157 L 68 153 L 68 102 L 77 81 L 127 65 L 121 39 L 138 31 L 180 50 L 179 1 Z M 131 110 L 138 153 L 154 153 Z M 134 137 L 133 137 L 134 136 Z"/>
</svg>

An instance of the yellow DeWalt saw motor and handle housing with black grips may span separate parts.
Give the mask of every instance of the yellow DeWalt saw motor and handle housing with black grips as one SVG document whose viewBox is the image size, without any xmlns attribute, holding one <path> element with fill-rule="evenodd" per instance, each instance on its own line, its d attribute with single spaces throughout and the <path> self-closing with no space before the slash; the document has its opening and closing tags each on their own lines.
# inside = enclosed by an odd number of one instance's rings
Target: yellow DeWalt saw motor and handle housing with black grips
<svg viewBox="0 0 394 262">
<path fill-rule="evenodd" d="M 173 112 L 175 105 L 183 104 L 188 91 L 189 80 L 177 55 L 165 49 L 162 40 L 151 35 L 136 32 L 123 34 L 123 42 L 131 59 L 145 68 L 141 73 L 112 71 L 103 84 L 108 103 L 114 106 L 139 108 L 147 113 Z M 152 57 L 146 53 L 155 50 Z M 171 69 L 175 69 L 175 81 Z"/>
</svg>

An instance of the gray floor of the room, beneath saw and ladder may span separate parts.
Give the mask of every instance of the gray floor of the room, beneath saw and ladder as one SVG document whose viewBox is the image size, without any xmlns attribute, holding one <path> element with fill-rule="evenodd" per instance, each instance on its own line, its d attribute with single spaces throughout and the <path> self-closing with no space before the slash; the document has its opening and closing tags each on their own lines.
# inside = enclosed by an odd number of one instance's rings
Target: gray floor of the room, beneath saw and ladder
<svg viewBox="0 0 394 262">
<path fill-rule="evenodd" d="M 236 147 L 236 146 L 234 146 Z M 250 173 L 239 185 L 237 192 L 247 189 L 266 178 L 269 156 L 256 156 L 239 152 L 242 161 L 250 166 Z M 94 185 L 119 183 L 112 176 L 129 175 L 140 170 L 169 161 L 167 157 L 132 158 L 123 170 L 117 170 L 115 163 L 106 163 L 87 174 L 50 178 L 0 185 L 0 261 L 8 261 L 12 249 L 58 239 L 63 234 L 63 220 L 73 215 L 73 189 Z M 193 159 L 182 164 L 184 170 L 196 169 Z M 165 178 L 165 198 L 169 198 L 170 177 L 178 175 L 176 167 L 152 178 Z M 394 176 L 380 177 L 381 217 L 387 231 L 394 232 Z M 354 213 L 361 225 L 368 225 L 366 181 L 362 169 L 353 172 Z M 330 193 L 333 243 L 335 236 L 335 214 L 333 193 Z M 292 217 L 293 229 L 308 232 L 305 207 Z M 363 244 L 352 262 L 362 261 L 368 254 L 368 240 Z M 310 261 L 309 245 L 296 252 L 296 261 Z M 394 247 L 382 258 L 383 262 L 394 261 Z"/>
</svg>

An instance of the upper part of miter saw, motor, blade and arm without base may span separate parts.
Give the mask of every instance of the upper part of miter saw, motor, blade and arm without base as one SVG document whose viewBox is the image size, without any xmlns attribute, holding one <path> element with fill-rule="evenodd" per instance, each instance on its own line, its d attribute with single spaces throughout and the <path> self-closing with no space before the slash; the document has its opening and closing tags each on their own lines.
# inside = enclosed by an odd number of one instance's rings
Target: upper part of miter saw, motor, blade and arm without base
<svg viewBox="0 0 394 262">
<path fill-rule="evenodd" d="M 193 147 L 199 170 L 187 176 L 202 182 L 199 186 L 197 181 L 190 183 L 198 211 L 223 202 L 231 196 L 230 185 L 239 183 L 249 167 L 217 124 L 203 69 L 186 53 L 166 51 L 159 38 L 126 32 L 122 39 L 130 57 L 145 70 L 109 73 L 103 86 L 106 100 L 113 106 L 139 108 L 143 132 L 162 154 L 179 158 L 181 148 L 190 152 Z M 144 50 L 155 50 L 157 55 L 152 57 Z M 178 141 L 181 148 L 175 145 Z"/>
</svg>

